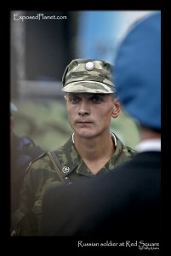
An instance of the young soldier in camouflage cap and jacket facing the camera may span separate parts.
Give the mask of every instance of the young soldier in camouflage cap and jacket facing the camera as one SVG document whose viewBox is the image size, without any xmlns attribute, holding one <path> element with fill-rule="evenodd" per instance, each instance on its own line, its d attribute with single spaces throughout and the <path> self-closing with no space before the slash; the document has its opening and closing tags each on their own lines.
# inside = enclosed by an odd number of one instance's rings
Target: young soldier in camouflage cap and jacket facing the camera
<svg viewBox="0 0 171 256">
<path fill-rule="evenodd" d="M 66 67 L 62 90 L 73 133 L 61 148 L 29 166 L 21 192 L 20 212 L 25 220 L 19 236 L 39 236 L 43 193 L 48 186 L 103 175 L 135 154 L 110 131 L 111 118 L 117 118 L 121 110 L 112 68 L 109 62 L 94 59 L 73 60 Z"/>
</svg>

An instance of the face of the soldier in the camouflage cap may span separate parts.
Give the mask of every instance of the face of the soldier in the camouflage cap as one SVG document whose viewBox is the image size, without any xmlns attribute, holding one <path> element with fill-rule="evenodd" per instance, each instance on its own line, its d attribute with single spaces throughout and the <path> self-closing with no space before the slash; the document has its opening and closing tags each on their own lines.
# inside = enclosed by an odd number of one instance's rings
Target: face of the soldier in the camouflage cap
<svg viewBox="0 0 171 256">
<path fill-rule="evenodd" d="M 79 137 L 95 137 L 109 130 L 117 118 L 120 103 L 112 94 L 68 93 L 66 108 L 72 130 Z"/>
</svg>

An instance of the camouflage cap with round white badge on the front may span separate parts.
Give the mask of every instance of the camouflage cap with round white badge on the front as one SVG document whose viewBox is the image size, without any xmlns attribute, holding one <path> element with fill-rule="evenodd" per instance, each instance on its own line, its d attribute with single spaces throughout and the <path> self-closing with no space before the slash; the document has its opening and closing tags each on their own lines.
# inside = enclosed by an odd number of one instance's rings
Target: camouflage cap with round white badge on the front
<svg viewBox="0 0 171 256">
<path fill-rule="evenodd" d="M 76 59 L 66 67 L 62 77 L 65 92 L 114 93 L 113 66 L 107 61 Z"/>
</svg>

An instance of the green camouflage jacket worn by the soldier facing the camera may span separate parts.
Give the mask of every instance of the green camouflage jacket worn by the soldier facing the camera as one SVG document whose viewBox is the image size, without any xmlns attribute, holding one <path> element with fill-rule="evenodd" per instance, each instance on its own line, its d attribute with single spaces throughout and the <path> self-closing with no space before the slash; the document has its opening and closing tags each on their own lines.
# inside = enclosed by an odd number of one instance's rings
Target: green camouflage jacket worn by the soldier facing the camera
<svg viewBox="0 0 171 256">
<path fill-rule="evenodd" d="M 136 153 L 134 149 L 125 146 L 116 135 L 113 140 L 116 140 L 117 147 L 111 159 L 103 166 L 95 175 L 103 175 L 111 172 L 115 166 L 128 160 Z M 71 183 L 79 178 L 94 177 L 94 174 L 89 171 L 80 155 L 77 153 L 72 137 L 54 153 L 58 156 L 61 164 L 61 176 L 64 179 L 69 179 Z M 25 215 L 24 223 L 20 224 L 20 232 L 18 236 L 39 236 L 38 226 L 42 213 L 43 192 L 48 186 L 59 183 L 61 179 L 54 170 L 54 165 L 48 156 L 48 152 L 40 155 L 37 160 L 31 162 L 21 191 L 20 212 L 14 216 L 14 223 L 17 223 L 17 218 Z M 16 227 L 17 225 L 14 224 Z M 16 229 L 18 229 L 16 227 Z"/>
</svg>

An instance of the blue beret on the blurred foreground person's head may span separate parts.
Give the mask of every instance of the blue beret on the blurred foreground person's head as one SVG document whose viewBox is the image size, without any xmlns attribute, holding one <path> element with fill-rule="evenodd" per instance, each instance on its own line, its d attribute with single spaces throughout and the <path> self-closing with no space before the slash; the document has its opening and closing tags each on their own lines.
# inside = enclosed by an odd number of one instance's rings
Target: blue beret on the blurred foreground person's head
<svg viewBox="0 0 171 256">
<path fill-rule="evenodd" d="M 161 13 L 137 21 L 117 49 L 114 83 L 123 109 L 161 129 Z"/>
</svg>

